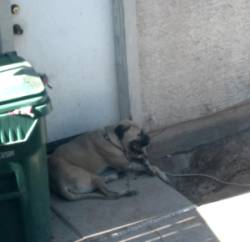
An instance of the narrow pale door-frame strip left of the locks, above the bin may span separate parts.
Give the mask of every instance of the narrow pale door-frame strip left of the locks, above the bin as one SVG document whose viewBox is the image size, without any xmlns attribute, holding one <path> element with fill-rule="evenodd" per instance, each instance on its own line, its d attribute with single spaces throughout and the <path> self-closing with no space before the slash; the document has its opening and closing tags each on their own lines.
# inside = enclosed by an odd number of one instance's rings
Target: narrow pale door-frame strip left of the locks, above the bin
<svg viewBox="0 0 250 242">
<path fill-rule="evenodd" d="M 0 4 L 0 53 L 13 51 L 11 9 L 9 0 L 1 0 Z"/>
</svg>

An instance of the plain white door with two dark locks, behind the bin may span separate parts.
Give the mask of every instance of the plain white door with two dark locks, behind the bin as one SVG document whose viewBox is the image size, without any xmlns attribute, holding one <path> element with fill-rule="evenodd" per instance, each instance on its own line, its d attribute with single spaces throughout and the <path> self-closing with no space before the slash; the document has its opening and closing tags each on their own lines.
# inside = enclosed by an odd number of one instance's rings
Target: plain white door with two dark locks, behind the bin
<svg viewBox="0 0 250 242">
<path fill-rule="evenodd" d="M 49 76 L 49 140 L 119 119 L 111 0 L 16 0 L 18 53 Z"/>
</svg>

